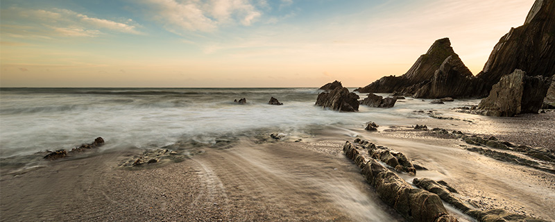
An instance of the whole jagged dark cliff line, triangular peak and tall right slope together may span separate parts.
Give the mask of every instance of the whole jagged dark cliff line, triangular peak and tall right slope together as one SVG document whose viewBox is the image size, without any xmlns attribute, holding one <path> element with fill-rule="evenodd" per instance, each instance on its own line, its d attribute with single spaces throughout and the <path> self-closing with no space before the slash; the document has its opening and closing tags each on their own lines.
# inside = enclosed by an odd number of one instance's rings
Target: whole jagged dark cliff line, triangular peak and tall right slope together
<svg viewBox="0 0 555 222">
<path fill-rule="evenodd" d="M 555 0 L 536 0 L 524 25 L 495 45 L 484 69 L 472 76 L 448 38 L 437 40 L 402 76 L 384 76 L 359 92 L 398 92 L 415 98 L 484 97 L 515 69 L 527 76 L 555 74 Z"/>
</svg>

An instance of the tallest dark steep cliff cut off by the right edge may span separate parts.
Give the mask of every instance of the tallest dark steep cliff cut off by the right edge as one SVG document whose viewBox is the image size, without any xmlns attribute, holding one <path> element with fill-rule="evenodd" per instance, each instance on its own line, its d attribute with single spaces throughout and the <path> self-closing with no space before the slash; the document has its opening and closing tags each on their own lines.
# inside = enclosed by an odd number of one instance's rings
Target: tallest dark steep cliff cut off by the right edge
<svg viewBox="0 0 555 222">
<path fill-rule="evenodd" d="M 555 74 L 555 1 L 536 0 L 524 25 L 511 28 L 493 48 L 484 69 L 477 78 L 484 82 L 481 96 L 502 76 L 515 69 L 529 76 Z"/>
</svg>

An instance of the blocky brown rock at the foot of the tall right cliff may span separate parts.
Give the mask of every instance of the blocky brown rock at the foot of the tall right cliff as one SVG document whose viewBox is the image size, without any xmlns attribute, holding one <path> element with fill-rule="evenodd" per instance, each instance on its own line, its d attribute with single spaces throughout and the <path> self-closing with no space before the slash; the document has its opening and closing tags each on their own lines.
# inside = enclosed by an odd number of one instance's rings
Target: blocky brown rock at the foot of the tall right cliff
<svg viewBox="0 0 555 222">
<path fill-rule="evenodd" d="M 478 105 L 484 114 L 493 117 L 513 117 L 520 113 L 538 113 L 547 94 L 548 80 L 542 76 L 527 76 L 516 69 L 493 85 L 490 96 Z"/>
</svg>

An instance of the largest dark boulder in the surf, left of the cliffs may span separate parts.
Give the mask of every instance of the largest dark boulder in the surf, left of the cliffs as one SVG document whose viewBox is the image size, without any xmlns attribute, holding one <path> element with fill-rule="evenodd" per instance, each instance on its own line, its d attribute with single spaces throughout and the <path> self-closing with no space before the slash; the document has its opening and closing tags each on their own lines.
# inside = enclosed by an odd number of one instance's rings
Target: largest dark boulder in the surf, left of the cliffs
<svg viewBox="0 0 555 222">
<path fill-rule="evenodd" d="M 346 87 L 333 89 L 331 92 L 318 94 L 316 104 L 331 110 L 342 112 L 359 111 L 359 96 L 354 92 L 349 92 Z"/>
</svg>

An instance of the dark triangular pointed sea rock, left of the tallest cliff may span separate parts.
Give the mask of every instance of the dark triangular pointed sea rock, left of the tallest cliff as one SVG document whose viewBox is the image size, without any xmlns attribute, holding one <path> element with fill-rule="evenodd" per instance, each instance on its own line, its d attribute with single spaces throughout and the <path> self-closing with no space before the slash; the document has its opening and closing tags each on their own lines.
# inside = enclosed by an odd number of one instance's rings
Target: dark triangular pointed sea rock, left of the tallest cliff
<svg viewBox="0 0 555 222">
<path fill-rule="evenodd" d="M 468 97 L 475 78 L 454 52 L 448 38 L 436 40 L 402 76 L 385 76 L 357 89 L 359 92 L 397 92 L 414 98 Z"/>
</svg>

